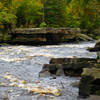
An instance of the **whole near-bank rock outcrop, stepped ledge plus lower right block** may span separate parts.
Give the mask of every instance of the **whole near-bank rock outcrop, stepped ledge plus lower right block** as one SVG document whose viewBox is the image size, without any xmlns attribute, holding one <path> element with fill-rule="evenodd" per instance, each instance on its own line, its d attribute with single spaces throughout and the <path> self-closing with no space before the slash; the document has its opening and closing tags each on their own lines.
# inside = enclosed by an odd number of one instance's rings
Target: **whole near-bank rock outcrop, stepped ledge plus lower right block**
<svg viewBox="0 0 100 100">
<path fill-rule="evenodd" d="M 52 58 L 41 76 L 80 76 L 79 96 L 100 95 L 100 62 L 92 58 Z"/>
</svg>

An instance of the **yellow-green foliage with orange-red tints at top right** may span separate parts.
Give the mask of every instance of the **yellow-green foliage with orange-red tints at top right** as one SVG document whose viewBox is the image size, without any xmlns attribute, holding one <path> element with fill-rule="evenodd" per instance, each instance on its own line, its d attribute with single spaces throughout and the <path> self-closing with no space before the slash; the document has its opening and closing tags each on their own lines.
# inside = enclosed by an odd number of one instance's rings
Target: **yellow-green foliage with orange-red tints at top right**
<svg viewBox="0 0 100 100">
<path fill-rule="evenodd" d="M 95 29 L 100 26 L 98 0 L 71 0 L 67 6 L 67 26 Z"/>
</svg>

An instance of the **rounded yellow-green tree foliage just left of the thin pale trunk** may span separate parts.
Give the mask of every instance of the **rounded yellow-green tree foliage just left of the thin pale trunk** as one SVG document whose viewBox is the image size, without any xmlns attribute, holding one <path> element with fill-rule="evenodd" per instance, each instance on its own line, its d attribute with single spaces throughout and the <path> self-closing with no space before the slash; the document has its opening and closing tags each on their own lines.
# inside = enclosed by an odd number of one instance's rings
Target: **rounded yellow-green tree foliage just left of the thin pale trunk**
<svg viewBox="0 0 100 100">
<path fill-rule="evenodd" d="M 17 8 L 17 25 L 38 27 L 42 21 L 42 4 L 37 0 L 23 0 Z"/>
</svg>

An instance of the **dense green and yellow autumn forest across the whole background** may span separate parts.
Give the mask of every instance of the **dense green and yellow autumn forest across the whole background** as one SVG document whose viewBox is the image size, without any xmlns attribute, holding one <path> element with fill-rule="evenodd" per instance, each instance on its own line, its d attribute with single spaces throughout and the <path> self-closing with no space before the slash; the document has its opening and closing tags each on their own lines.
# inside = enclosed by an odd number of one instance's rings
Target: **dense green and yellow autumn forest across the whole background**
<svg viewBox="0 0 100 100">
<path fill-rule="evenodd" d="M 0 0 L 4 27 L 100 27 L 100 0 Z"/>
</svg>

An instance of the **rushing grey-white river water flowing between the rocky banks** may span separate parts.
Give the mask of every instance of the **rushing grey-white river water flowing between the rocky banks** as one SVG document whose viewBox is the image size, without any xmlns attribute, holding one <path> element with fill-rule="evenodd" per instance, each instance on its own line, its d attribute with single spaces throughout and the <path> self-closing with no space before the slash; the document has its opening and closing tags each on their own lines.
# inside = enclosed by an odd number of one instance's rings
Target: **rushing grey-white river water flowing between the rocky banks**
<svg viewBox="0 0 100 100">
<path fill-rule="evenodd" d="M 17 78 L 27 80 L 30 84 L 40 80 L 42 87 L 55 87 L 62 91 L 59 97 L 30 94 L 25 89 L 11 86 L 0 86 L 0 95 L 8 95 L 10 100 L 78 100 L 78 88 L 71 84 L 79 82 L 80 78 L 60 76 L 39 77 L 43 64 L 48 64 L 50 58 L 79 57 L 96 58 L 96 53 L 86 49 L 95 43 L 61 44 L 48 46 L 2 46 L 0 47 L 0 82 L 9 83 L 3 78 L 6 72 Z"/>
</svg>

